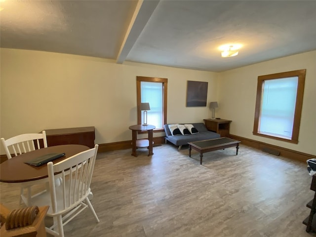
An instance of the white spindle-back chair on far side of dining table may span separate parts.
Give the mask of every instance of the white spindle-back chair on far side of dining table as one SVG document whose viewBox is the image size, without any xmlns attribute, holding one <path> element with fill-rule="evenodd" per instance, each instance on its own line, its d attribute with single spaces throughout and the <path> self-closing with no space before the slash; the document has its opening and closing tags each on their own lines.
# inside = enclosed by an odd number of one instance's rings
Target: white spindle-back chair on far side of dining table
<svg viewBox="0 0 316 237">
<path fill-rule="evenodd" d="M 1 138 L 1 143 L 5 150 L 6 157 L 8 159 L 11 159 L 12 155 L 16 157 L 23 153 L 40 149 L 41 148 L 40 140 L 43 141 L 43 147 L 44 148 L 47 147 L 45 131 L 42 131 L 42 133 L 21 134 L 15 137 L 11 137 L 7 140 L 5 140 L 4 138 Z M 37 144 L 37 147 L 35 147 L 35 142 Z M 27 189 L 27 197 L 24 196 L 24 189 Z M 30 206 L 31 195 L 32 195 L 31 186 L 22 183 L 21 192 L 20 192 L 20 204 L 23 201 L 27 206 Z"/>
</svg>

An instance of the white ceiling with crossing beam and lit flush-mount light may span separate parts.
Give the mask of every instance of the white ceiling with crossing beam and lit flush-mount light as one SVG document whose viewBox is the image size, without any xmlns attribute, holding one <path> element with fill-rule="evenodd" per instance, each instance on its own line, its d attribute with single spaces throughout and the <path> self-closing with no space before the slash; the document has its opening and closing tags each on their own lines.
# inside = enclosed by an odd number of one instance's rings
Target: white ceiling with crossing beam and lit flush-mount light
<svg viewBox="0 0 316 237">
<path fill-rule="evenodd" d="M 316 0 L 1 0 L 0 46 L 222 72 L 316 50 Z M 222 44 L 242 44 L 221 58 Z"/>
</svg>

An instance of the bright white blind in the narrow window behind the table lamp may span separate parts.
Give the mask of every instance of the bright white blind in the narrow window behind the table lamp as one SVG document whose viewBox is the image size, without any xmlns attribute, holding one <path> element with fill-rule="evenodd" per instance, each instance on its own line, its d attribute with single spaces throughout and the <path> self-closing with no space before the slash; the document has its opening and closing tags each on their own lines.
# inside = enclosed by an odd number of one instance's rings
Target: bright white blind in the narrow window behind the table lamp
<svg viewBox="0 0 316 237">
<path fill-rule="evenodd" d="M 154 125 L 157 128 L 162 128 L 162 113 L 163 113 L 163 84 L 162 82 L 141 81 L 141 102 L 148 102 L 150 111 L 147 112 L 148 124 Z M 143 113 L 141 113 L 142 121 L 144 121 Z"/>
</svg>

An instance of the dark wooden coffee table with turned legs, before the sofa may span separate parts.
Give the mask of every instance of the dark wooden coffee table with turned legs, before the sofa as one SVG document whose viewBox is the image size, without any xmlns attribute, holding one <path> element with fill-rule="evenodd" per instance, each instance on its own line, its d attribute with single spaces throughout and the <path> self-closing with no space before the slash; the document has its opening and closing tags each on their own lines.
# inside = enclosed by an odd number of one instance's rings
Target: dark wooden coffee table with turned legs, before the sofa
<svg viewBox="0 0 316 237">
<path fill-rule="evenodd" d="M 238 155 L 240 141 L 228 138 L 221 137 L 216 139 L 197 141 L 197 142 L 188 142 L 189 144 L 189 157 L 191 157 L 191 150 L 196 150 L 199 152 L 200 164 L 202 164 L 203 153 L 212 152 L 216 150 L 224 150 L 225 148 L 235 147 L 236 146 L 236 156 Z"/>
</svg>

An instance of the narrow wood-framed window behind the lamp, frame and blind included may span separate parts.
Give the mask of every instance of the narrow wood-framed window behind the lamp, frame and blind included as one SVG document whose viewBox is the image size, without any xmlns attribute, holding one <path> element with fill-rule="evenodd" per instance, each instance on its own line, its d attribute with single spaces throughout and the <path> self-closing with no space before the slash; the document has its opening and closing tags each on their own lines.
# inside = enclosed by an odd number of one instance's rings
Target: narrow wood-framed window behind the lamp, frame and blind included
<svg viewBox="0 0 316 237">
<path fill-rule="evenodd" d="M 148 102 L 150 110 L 147 112 L 148 124 L 155 125 L 155 131 L 163 131 L 163 124 L 167 123 L 167 83 L 166 78 L 137 77 L 137 122 L 143 121 L 140 103 Z"/>
</svg>

